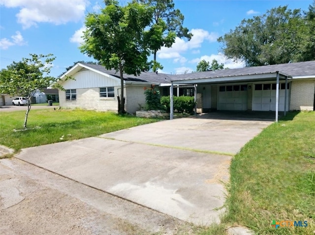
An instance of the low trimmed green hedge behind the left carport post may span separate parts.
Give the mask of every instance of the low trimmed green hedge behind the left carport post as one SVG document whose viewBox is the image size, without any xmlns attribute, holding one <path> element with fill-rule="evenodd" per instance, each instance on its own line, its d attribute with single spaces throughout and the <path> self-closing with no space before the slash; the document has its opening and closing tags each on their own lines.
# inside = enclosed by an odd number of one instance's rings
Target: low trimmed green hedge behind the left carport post
<svg viewBox="0 0 315 235">
<path fill-rule="evenodd" d="M 170 96 L 162 96 L 161 104 L 167 112 L 170 112 Z M 194 97 L 192 96 L 173 96 L 174 111 L 178 113 L 193 113 L 195 107 Z"/>
</svg>

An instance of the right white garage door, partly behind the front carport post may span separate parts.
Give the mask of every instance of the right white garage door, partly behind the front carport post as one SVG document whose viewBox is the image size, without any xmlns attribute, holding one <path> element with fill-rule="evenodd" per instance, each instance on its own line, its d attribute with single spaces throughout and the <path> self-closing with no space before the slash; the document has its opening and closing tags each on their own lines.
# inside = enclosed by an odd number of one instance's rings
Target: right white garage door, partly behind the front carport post
<svg viewBox="0 0 315 235">
<path fill-rule="evenodd" d="M 287 86 L 286 111 L 289 110 L 289 87 Z M 285 84 L 279 86 L 279 111 L 284 111 Z M 252 94 L 252 110 L 276 111 L 276 84 L 254 84 Z"/>
</svg>

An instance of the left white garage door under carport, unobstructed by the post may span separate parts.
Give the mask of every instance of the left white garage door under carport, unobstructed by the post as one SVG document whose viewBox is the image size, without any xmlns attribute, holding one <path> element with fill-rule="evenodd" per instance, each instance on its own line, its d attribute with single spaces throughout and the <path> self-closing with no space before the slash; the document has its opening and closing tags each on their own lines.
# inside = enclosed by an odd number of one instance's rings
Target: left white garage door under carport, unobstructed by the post
<svg viewBox="0 0 315 235">
<path fill-rule="evenodd" d="M 247 110 L 247 84 L 218 87 L 218 110 Z"/>
</svg>

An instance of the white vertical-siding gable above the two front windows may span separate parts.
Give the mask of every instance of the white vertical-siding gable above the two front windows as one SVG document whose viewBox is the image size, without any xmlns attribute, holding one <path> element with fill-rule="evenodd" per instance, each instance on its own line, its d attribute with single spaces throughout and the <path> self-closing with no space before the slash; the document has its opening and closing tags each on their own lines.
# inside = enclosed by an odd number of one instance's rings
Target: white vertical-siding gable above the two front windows
<svg viewBox="0 0 315 235">
<path fill-rule="evenodd" d="M 106 77 L 90 70 L 80 70 L 72 76 L 75 80 L 63 83 L 65 89 L 100 88 L 120 86 L 120 81 Z"/>
</svg>

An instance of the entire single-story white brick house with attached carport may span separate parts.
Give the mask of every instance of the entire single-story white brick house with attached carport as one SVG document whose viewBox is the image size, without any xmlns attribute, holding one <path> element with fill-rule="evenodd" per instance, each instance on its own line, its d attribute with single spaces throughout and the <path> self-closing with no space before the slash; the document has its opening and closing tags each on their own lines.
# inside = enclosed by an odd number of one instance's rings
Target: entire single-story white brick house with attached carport
<svg viewBox="0 0 315 235">
<path fill-rule="evenodd" d="M 74 80 L 63 81 L 65 76 Z M 77 63 L 61 77 L 60 106 L 117 111 L 119 73 L 101 65 Z M 161 95 L 194 95 L 197 108 L 208 110 L 315 110 L 315 61 L 169 75 L 124 75 L 126 111 L 145 103 L 144 88 Z M 278 89 L 277 89 L 278 88 Z M 278 105 L 276 105 L 278 104 Z"/>
</svg>

